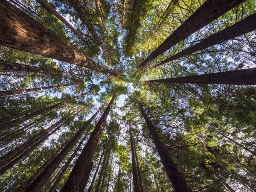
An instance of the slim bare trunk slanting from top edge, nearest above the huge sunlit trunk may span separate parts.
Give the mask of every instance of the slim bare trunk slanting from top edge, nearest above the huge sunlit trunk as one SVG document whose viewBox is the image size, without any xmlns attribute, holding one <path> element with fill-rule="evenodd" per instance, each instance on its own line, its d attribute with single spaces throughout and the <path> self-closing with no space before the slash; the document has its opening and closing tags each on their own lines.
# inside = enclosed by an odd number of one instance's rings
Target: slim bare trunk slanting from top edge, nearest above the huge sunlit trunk
<svg viewBox="0 0 256 192">
<path fill-rule="evenodd" d="M 47 12 L 51 13 L 55 17 L 57 17 L 59 20 L 61 20 L 68 28 L 70 28 L 82 41 L 84 41 L 85 44 L 87 44 L 87 41 L 79 34 L 79 32 L 76 31 L 76 29 L 66 20 L 64 17 L 61 16 L 46 0 L 36 0 L 38 3 L 41 4 L 41 6 L 44 7 L 44 9 L 47 10 Z"/>
</svg>

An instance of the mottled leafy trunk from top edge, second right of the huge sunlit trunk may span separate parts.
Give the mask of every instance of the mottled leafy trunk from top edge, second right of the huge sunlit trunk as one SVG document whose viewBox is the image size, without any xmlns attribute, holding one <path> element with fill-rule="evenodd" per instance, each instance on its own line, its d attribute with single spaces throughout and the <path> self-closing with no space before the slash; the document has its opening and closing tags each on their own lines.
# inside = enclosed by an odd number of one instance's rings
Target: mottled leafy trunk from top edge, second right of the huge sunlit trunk
<svg viewBox="0 0 256 192">
<path fill-rule="evenodd" d="M 93 38 L 96 40 L 97 44 L 102 48 L 102 50 L 110 57 L 108 50 L 106 47 L 102 44 L 102 40 L 100 39 L 99 35 L 95 31 L 93 24 L 90 22 L 90 20 L 87 18 L 86 15 L 86 7 L 82 5 L 79 0 L 69 0 L 70 4 L 73 6 L 73 8 L 76 10 L 77 14 L 79 15 L 80 19 L 86 25 L 88 31 L 93 35 Z"/>
</svg>

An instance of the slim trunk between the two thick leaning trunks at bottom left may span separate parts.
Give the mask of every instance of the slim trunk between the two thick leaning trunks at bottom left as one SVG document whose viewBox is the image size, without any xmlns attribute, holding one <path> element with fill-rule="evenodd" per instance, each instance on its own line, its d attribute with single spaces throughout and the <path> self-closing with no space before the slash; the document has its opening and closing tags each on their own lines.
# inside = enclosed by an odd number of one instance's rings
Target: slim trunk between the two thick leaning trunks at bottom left
<svg viewBox="0 0 256 192">
<path fill-rule="evenodd" d="M 49 190 L 49 192 L 55 192 L 55 189 L 58 187 L 58 185 L 61 183 L 61 180 L 63 178 L 63 176 L 65 175 L 67 169 L 70 166 L 70 163 L 72 162 L 73 158 L 76 156 L 78 150 L 80 150 L 80 147 L 83 143 L 83 141 L 85 140 L 85 138 L 87 137 L 87 134 L 84 136 L 84 138 L 81 140 L 81 142 L 79 143 L 79 145 L 77 146 L 76 150 L 73 152 L 73 154 L 69 157 L 69 159 L 67 160 L 67 162 L 65 163 L 63 169 L 61 170 L 60 174 L 58 175 L 57 179 L 55 180 L 55 182 L 53 183 L 51 189 Z"/>
</svg>

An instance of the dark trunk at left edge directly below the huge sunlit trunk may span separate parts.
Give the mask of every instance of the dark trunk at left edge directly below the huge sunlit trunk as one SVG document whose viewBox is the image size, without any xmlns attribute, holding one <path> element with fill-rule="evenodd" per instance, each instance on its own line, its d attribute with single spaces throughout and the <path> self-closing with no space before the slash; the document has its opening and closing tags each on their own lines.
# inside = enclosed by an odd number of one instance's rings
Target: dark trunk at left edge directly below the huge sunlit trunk
<svg viewBox="0 0 256 192">
<path fill-rule="evenodd" d="M 61 74 L 61 75 L 72 75 L 72 73 L 65 73 L 57 69 L 40 69 L 38 67 L 19 64 L 16 62 L 0 60 L 0 70 L 5 71 L 22 71 L 22 72 L 34 72 L 34 73 L 48 73 L 48 74 Z"/>
</svg>

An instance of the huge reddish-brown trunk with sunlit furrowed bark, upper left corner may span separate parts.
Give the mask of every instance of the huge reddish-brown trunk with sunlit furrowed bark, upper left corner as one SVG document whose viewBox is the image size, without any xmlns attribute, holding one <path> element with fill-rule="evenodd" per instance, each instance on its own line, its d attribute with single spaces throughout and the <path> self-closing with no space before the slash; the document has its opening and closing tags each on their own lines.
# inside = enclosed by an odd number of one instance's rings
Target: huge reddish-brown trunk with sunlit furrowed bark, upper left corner
<svg viewBox="0 0 256 192">
<path fill-rule="evenodd" d="M 113 75 L 6 0 L 0 0 L 0 36 L 1 45 Z"/>
</svg>

